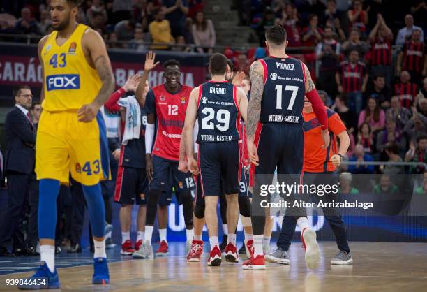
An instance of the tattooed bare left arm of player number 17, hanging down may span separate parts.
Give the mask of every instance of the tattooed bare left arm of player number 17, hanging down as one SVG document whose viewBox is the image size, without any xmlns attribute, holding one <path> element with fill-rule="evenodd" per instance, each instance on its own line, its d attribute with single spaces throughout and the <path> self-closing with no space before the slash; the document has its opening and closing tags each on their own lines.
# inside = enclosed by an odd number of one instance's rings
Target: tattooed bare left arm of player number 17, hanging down
<svg viewBox="0 0 427 292">
<path fill-rule="evenodd" d="M 264 92 L 264 71 L 260 61 L 255 61 L 250 66 L 250 100 L 248 103 L 248 115 L 246 122 L 246 134 L 248 140 L 253 141 L 257 124 L 261 115 L 261 99 Z"/>
</svg>

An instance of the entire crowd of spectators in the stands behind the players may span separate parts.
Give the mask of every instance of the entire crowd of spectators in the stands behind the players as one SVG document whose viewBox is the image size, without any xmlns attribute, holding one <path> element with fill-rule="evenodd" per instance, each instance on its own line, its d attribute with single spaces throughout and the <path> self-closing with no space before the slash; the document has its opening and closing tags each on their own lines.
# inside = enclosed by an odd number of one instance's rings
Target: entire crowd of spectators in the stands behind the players
<svg viewBox="0 0 427 292">
<path fill-rule="evenodd" d="M 1 32 L 47 34 L 49 0 L 6 5 Z M 78 21 L 103 34 L 111 48 L 213 52 L 214 23 L 202 0 L 86 0 Z M 405 161 L 418 159 L 427 136 L 426 1 L 392 5 L 389 0 L 234 0 L 241 25 L 253 27 L 260 46 L 225 50 L 236 71 L 248 73 L 265 57 L 264 31 L 274 24 L 287 31 L 290 52 L 308 64 L 325 103 L 348 127 L 352 146 L 387 161 L 396 145 Z M 20 16 L 13 22 L 14 15 Z M 147 45 L 147 43 L 154 43 Z M 172 45 L 174 44 L 174 45 Z M 295 50 L 296 48 L 296 50 Z M 293 54 L 292 52 L 295 52 Z M 354 157 L 353 157 L 354 158 Z M 375 171 L 380 171 L 375 169 Z"/>
</svg>

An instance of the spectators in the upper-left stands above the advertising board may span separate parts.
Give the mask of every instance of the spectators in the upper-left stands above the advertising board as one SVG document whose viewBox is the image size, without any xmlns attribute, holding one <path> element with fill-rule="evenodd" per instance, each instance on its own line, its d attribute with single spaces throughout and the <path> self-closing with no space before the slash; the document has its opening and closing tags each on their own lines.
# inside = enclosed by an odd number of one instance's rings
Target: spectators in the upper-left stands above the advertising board
<svg viewBox="0 0 427 292">
<path fill-rule="evenodd" d="M 27 0 L 2 6 L 0 34 L 42 36 L 52 31 L 50 0 Z M 110 48 L 211 52 L 216 44 L 213 22 L 204 17 L 202 0 L 82 0 L 77 21 L 98 31 Z M 19 38 L 15 38 L 19 41 Z M 179 44 L 172 46 L 170 44 Z"/>
</svg>

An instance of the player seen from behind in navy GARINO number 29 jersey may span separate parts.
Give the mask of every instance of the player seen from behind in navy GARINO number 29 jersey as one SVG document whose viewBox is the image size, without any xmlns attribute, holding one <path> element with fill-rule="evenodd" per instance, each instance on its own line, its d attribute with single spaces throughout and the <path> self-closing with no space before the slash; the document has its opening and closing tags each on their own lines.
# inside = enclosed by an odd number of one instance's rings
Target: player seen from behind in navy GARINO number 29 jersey
<svg viewBox="0 0 427 292">
<path fill-rule="evenodd" d="M 205 203 L 205 220 L 209 231 L 211 252 L 208 265 L 221 263 L 218 242 L 218 219 L 216 208 L 221 191 L 227 198 L 227 222 L 229 233 L 225 258 L 239 261 L 236 247 L 236 230 L 239 219 L 239 181 L 241 176 L 241 154 L 239 150 L 240 118 L 246 120 L 248 100 L 243 90 L 225 80 L 227 58 L 213 54 L 209 60 L 211 81 L 193 89 L 186 112 L 184 142 L 191 173 L 200 170 L 201 189 Z M 194 159 L 193 129 L 198 121 L 199 159 Z M 223 187 L 220 187 L 222 182 Z"/>
</svg>

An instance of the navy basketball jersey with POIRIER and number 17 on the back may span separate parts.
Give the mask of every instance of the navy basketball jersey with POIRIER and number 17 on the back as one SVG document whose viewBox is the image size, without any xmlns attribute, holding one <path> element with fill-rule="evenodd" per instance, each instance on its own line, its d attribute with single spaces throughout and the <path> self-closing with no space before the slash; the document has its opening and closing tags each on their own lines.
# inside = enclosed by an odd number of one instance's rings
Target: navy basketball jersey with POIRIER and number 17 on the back
<svg viewBox="0 0 427 292">
<path fill-rule="evenodd" d="M 306 93 L 303 64 L 291 57 L 260 61 L 264 66 L 260 122 L 302 124 Z"/>
</svg>

